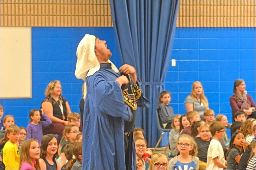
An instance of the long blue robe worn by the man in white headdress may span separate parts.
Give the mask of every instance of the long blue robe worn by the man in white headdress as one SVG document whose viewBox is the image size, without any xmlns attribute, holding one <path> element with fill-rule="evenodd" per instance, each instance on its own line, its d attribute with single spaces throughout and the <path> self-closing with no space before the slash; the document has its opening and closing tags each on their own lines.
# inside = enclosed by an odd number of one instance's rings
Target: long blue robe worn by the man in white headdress
<svg viewBox="0 0 256 170">
<path fill-rule="evenodd" d="M 131 121 L 132 113 L 117 77 L 110 63 L 101 63 L 99 71 L 86 78 L 83 169 L 126 169 L 124 121 Z"/>
</svg>

